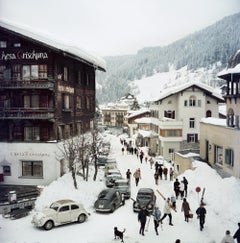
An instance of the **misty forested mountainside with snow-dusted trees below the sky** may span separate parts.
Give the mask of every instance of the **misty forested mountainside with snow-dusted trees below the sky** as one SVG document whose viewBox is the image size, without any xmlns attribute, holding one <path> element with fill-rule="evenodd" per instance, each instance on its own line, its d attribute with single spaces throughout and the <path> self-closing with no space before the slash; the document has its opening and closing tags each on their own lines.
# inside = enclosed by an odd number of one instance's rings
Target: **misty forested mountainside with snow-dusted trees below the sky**
<svg viewBox="0 0 240 243">
<path fill-rule="evenodd" d="M 146 47 L 136 55 L 104 57 L 107 72 L 97 73 L 97 99 L 100 103 L 115 101 L 131 92 L 129 82 L 187 66 L 189 70 L 225 68 L 240 49 L 240 13 L 226 17 L 201 31 L 165 47 Z M 151 38 L 151 36 L 149 36 Z"/>
</svg>

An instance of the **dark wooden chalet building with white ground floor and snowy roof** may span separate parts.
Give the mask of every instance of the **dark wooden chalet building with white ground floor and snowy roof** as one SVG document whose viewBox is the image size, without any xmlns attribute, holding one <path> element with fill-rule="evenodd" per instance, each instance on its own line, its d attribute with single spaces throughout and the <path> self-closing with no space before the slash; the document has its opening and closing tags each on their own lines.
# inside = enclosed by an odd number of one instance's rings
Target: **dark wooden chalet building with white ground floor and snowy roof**
<svg viewBox="0 0 240 243">
<path fill-rule="evenodd" d="M 0 22 L 0 174 L 6 184 L 61 175 L 58 143 L 91 128 L 104 61 Z"/>
</svg>

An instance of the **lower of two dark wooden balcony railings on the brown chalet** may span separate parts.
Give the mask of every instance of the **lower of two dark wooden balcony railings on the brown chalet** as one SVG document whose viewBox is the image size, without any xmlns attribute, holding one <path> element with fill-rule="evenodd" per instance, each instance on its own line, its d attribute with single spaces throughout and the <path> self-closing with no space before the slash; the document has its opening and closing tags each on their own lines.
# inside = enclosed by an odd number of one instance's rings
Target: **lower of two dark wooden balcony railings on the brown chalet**
<svg viewBox="0 0 240 243">
<path fill-rule="evenodd" d="M 42 119 L 54 118 L 53 108 L 0 108 L 0 120 L 4 119 Z"/>
</svg>

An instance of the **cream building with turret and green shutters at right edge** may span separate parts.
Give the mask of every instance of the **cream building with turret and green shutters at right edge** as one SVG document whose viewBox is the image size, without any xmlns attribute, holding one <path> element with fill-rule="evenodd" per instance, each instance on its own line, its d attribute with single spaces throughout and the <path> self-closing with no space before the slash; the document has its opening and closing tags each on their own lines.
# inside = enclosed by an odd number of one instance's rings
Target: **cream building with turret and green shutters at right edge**
<svg viewBox="0 0 240 243">
<path fill-rule="evenodd" d="M 218 74 L 226 81 L 226 119 L 203 119 L 200 156 L 219 172 L 240 178 L 240 51 Z"/>
</svg>

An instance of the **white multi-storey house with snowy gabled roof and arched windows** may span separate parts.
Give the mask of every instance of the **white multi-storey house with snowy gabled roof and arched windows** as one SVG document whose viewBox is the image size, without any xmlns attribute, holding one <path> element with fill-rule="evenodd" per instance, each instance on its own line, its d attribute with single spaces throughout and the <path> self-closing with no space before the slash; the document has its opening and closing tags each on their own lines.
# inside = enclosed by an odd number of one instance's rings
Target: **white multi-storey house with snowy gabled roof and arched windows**
<svg viewBox="0 0 240 243">
<path fill-rule="evenodd" d="M 199 149 L 200 120 L 219 117 L 218 105 L 223 102 L 220 94 L 202 83 L 190 82 L 164 91 L 149 107 L 159 139 L 154 152 L 172 160 L 175 151 Z"/>
</svg>

